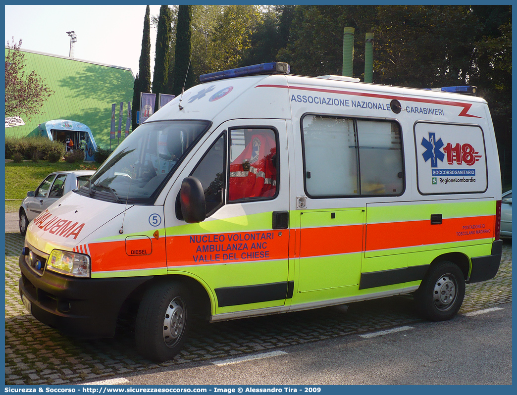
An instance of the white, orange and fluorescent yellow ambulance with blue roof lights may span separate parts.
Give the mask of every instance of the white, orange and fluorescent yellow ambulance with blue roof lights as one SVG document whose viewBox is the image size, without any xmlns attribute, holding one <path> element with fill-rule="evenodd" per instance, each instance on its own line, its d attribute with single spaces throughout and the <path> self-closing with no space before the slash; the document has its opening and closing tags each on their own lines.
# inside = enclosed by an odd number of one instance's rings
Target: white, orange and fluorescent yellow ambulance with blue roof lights
<svg viewBox="0 0 517 395">
<path fill-rule="evenodd" d="M 109 338 L 132 312 L 137 350 L 164 361 L 195 316 L 413 294 L 442 321 L 466 283 L 496 275 L 499 160 L 475 87 L 302 77 L 286 63 L 200 81 L 29 224 L 20 294 L 42 323 Z"/>
</svg>

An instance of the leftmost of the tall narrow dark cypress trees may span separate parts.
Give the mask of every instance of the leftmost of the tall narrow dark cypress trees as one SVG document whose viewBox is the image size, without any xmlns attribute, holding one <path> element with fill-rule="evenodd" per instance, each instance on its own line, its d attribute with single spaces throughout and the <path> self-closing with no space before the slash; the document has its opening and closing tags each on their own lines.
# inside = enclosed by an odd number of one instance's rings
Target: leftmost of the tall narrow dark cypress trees
<svg viewBox="0 0 517 395">
<path fill-rule="evenodd" d="M 131 130 L 136 124 L 136 111 L 140 111 L 140 93 L 151 92 L 151 23 L 149 6 L 145 9 L 142 49 L 140 51 L 139 70 L 133 86 L 133 104 L 131 108 Z"/>
</svg>

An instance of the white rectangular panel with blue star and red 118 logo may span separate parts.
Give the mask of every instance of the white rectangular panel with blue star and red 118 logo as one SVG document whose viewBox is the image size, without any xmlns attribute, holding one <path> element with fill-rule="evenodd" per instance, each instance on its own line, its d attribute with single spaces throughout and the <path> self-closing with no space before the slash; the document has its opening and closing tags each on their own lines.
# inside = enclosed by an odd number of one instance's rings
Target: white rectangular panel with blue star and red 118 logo
<svg viewBox="0 0 517 395">
<path fill-rule="evenodd" d="M 478 126 L 417 123 L 418 190 L 422 194 L 484 192 L 483 131 Z"/>
</svg>

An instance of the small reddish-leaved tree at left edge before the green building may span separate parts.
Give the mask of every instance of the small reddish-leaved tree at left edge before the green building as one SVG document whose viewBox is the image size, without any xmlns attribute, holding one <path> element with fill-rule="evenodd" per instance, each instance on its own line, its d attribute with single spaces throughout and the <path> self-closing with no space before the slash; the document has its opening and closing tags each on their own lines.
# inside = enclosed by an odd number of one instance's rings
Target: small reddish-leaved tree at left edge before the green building
<svg viewBox="0 0 517 395">
<path fill-rule="evenodd" d="M 18 44 L 7 42 L 5 55 L 5 115 L 25 115 L 31 119 L 39 114 L 43 103 L 55 92 L 34 70 L 26 73 L 25 54 L 20 51 L 22 40 Z"/>
</svg>

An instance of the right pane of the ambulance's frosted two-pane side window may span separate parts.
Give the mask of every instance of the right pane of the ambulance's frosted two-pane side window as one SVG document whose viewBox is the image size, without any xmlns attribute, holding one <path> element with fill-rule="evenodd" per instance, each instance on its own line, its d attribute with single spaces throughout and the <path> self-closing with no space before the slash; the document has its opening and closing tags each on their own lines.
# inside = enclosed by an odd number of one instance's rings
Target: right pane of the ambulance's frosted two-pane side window
<svg viewBox="0 0 517 395">
<path fill-rule="evenodd" d="M 361 195 L 399 195 L 404 190 L 400 127 L 357 120 Z"/>
</svg>

